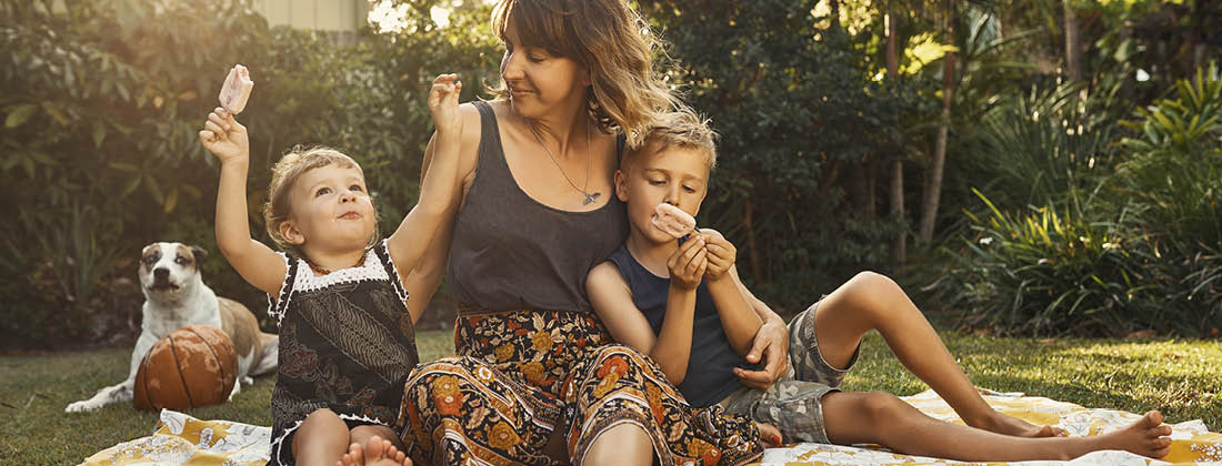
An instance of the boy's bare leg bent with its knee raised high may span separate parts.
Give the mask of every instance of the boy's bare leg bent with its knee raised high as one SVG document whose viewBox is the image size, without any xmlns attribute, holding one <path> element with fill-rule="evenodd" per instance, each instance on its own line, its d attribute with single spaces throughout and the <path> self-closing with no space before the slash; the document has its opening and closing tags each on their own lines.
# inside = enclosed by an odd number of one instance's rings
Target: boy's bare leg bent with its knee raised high
<svg viewBox="0 0 1222 466">
<path fill-rule="evenodd" d="M 934 327 L 891 278 L 857 274 L 819 303 L 814 318 L 819 351 L 832 367 L 846 367 L 865 333 L 877 329 L 899 362 L 937 392 L 968 426 L 1018 437 L 1064 434 L 989 406 Z"/>
</svg>

